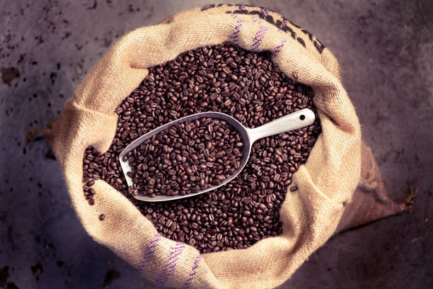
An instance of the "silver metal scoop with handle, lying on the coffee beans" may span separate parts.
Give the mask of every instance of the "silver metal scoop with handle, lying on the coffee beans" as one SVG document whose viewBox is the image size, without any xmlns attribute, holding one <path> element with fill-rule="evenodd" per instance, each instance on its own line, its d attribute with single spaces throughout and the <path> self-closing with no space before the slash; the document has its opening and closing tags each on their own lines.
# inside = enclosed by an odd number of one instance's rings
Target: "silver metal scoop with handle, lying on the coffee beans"
<svg viewBox="0 0 433 289">
<path fill-rule="evenodd" d="M 267 123 L 265 125 L 262 125 L 258 128 L 246 128 L 241 123 L 238 122 L 235 118 L 232 118 L 230 115 L 226 115 L 225 113 L 217 113 L 217 112 L 206 112 L 206 113 L 196 113 L 193 115 L 185 116 L 185 118 L 179 118 L 178 120 L 174 120 L 171 123 L 167 123 L 166 125 L 162 125 L 159 128 L 156 128 L 155 130 L 152 130 L 151 132 L 146 133 L 146 135 L 142 135 L 141 137 L 137 138 L 137 140 L 134 140 L 134 142 L 131 142 L 123 151 L 120 153 L 119 160 L 120 165 L 122 166 L 123 174 L 125 175 L 125 179 L 127 180 L 128 186 L 132 186 L 132 179 L 127 175 L 128 171 L 132 171 L 131 167 L 129 166 L 128 162 L 123 161 L 123 157 L 132 149 L 139 147 L 139 145 L 142 145 L 142 142 L 145 140 L 153 137 L 154 135 L 157 135 L 159 132 L 162 132 L 163 130 L 166 130 L 167 128 L 170 128 L 171 126 L 175 125 L 176 123 L 185 123 L 190 120 L 195 120 L 197 118 L 217 118 L 220 120 L 225 120 L 229 125 L 231 125 L 232 128 L 237 130 L 243 140 L 243 149 L 242 149 L 242 158 L 241 158 L 241 165 L 239 166 L 236 171 L 229 176 L 228 179 L 222 181 L 217 186 L 210 186 L 209 188 L 205 188 L 202 191 L 198 191 L 197 193 L 188 193 L 183 196 L 155 196 L 155 197 L 149 197 L 149 196 L 134 196 L 137 200 L 144 200 L 147 202 L 161 202 L 164 200 L 177 200 L 180 198 L 188 198 L 191 196 L 197 196 L 202 193 L 206 193 L 209 191 L 212 191 L 216 188 L 219 188 L 220 186 L 224 186 L 226 183 L 229 183 L 229 181 L 233 180 L 238 176 L 238 174 L 243 170 L 243 167 L 248 162 L 248 158 L 250 157 L 251 147 L 253 146 L 253 143 L 256 140 L 260 140 L 262 137 L 269 137 L 270 135 L 277 135 L 282 132 L 289 132 L 290 130 L 297 130 L 299 128 L 304 128 L 307 125 L 311 125 L 314 123 L 314 113 L 313 111 L 309 110 L 308 108 L 301 109 L 300 111 L 296 111 L 294 113 L 290 113 L 289 115 L 285 115 L 282 118 L 278 118 L 277 120 L 273 120 L 270 123 Z"/>
</svg>

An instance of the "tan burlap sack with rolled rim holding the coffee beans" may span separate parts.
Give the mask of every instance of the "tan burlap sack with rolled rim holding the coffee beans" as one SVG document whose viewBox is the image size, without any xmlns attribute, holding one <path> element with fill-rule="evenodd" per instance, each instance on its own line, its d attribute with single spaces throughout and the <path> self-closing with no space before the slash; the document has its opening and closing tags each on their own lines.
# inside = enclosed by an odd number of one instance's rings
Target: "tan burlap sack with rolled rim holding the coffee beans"
<svg viewBox="0 0 433 289">
<path fill-rule="evenodd" d="M 89 145 L 99 152 L 108 149 L 115 135 L 115 108 L 146 77 L 146 67 L 173 60 L 186 50 L 226 41 L 247 50 L 270 50 L 282 72 L 289 76 L 297 72 L 300 82 L 312 86 L 323 133 L 308 162 L 293 176 L 292 186 L 299 189 L 289 191 L 282 204 L 281 236 L 262 239 L 249 249 L 200 255 L 192 246 L 161 237 L 127 198 L 104 181 L 96 181 L 96 205 L 89 206 L 83 198 L 82 159 Z M 56 127 L 52 147 L 83 227 L 96 242 L 158 285 L 272 288 L 287 280 L 337 229 L 361 225 L 380 215 L 380 206 L 374 207 L 376 215 L 345 210 L 362 172 L 362 141 L 335 57 L 311 33 L 265 8 L 204 6 L 132 31 L 91 69 L 65 104 Z M 364 163 L 376 168 L 368 149 L 363 149 L 365 153 Z M 362 179 L 364 187 L 358 189 L 358 195 L 365 188 L 384 192 L 379 171 L 371 174 Z M 383 196 L 387 198 L 386 193 Z M 357 201 L 363 203 L 363 198 Z M 371 204 L 360 208 L 369 211 Z M 386 213 L 390 215 L 393 209 L 387 207 Z M 106 218 L 100 222 L 102 213 Z"/>
</svg>

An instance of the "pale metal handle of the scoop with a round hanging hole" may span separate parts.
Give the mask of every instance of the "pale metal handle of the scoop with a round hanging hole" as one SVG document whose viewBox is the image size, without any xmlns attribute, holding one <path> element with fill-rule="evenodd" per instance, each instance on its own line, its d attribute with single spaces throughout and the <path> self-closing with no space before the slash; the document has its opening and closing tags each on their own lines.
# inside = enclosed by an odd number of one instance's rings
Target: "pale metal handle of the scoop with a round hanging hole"
<svg viewBox="0 0 433 289">
<path fill-rule="evenodd" d="M 250 137 L 250 143 L 253 144 L 253 142 L 260 140 L 263 137 L 269 137 L 270 135 L 277 135 L 282 132 L 304 128 L 313 124 L 315 118 L 313 111 L 304 108 L 300 111 L 295 111 L 294 113 L 285 115 L 282 118 L 272 120 L 270 123 L 261 125 L 258 128 L 247 129 L 248 137 Z"/>
</svg>

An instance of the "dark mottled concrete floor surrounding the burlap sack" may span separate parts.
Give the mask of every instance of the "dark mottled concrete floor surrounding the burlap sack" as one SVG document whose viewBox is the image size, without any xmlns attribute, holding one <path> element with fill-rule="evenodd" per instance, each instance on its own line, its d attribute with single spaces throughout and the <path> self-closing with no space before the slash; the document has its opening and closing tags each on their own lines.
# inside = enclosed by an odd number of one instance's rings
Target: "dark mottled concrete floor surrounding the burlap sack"
<svg viewBox="0 0 433 289">
<path fill-rule="evenodd" d="M 87 236 L 57 163 L 25 132 L 59 115 L 129 30 L 208 1 L 0 1 L 0 288 L 153 288 Z M 433 2 L 244 1 L 312 31 L 343 83 L 391 197 L 414 212 L 333 237 L 281 288 L 433 288 Z"/>
</svg>

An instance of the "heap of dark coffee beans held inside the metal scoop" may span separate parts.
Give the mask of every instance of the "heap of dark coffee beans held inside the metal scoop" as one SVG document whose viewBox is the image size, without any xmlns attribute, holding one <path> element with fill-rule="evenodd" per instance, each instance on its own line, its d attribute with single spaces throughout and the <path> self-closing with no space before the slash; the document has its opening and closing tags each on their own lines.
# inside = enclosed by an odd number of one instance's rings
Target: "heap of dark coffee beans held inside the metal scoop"
<svg viewBox="0 0 433 289">
<path fill-rule="evenodd" d="M 225 120 L 177 123 L 128 152 L 132 194 L 178 196 L 217 186 L 241 166 L 243 142 Z"/>
</svg>

